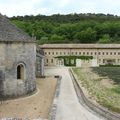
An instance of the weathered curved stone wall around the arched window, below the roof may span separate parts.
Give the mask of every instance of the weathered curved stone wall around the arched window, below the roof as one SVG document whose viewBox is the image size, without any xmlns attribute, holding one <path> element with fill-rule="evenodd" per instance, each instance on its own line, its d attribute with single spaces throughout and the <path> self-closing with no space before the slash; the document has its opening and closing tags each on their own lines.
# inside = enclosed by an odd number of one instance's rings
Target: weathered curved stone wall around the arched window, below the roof
<svg viewBox="0 0 120 120">
<path fill-rule="evenodd" d="M 35 43 L 2 43 L 0 44 L 0 66 L 4 68 L 2 74 L 3 96 L 20 96 L 36 89 L 35 84 Z M 17 66 L 24 64 L 25 79 L 17 79 Z"/>
</svg>

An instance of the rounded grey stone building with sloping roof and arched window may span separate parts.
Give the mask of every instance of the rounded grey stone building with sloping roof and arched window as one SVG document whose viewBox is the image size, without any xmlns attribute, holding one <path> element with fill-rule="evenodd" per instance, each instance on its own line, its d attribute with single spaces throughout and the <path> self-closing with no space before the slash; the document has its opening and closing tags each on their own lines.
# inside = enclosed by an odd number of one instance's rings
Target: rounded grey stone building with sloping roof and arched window
<svg viewBox="0 0 120 120">
<path fill-rule="evenodd" d="M 35 41 L 0 15 L 0 96 L 36 90 L 35 64 Z"/>
</svg>

